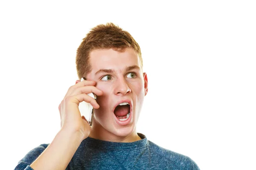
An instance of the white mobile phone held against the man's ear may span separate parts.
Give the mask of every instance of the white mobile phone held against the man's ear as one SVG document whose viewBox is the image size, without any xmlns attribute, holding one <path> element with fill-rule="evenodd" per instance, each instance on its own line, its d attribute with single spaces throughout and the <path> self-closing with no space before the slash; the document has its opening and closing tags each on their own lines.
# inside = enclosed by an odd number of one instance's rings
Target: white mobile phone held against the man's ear
<svg viewBox="0 0 256 170">
<path fill-rule="evenodd" d="M 81 78 L 81 81 L 85 80 L 84 77 Z M 97 96 L 94 93 L 87 94 L 88 96 L 93 97 L 95 100 L 97 99 Z M 89 125 L 93 125 L 93 115 L 94 115 L 94 108 L 90 103 L 87 102 L 80 102 L 79 103 L 79 111 L 81 113 L 81 116 L 84 116 L 85 119 L 88 121 Z"/>
</svg>

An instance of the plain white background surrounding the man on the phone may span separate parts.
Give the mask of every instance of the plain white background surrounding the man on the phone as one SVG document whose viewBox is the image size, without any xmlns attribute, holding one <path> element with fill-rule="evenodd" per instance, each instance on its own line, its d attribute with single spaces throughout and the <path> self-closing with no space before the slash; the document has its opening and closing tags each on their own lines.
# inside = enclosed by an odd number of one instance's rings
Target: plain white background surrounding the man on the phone
<svg viewBox="0 0 256 170">
<path fill-rule="evenodd" d="M 60 129 L 76 49 L 113 22 L 142 49 L 148 95 L 137 125 L 201 170 L 256 169 L 253 0 L 0 3 L 0 156 L 11 170 Z"/>
</svg>

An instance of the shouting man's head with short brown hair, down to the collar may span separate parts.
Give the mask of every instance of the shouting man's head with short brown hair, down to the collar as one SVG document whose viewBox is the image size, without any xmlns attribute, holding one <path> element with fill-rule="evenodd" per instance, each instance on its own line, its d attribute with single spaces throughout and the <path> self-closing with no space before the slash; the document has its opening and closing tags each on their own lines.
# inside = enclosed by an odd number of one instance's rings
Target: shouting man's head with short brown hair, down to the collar
<svg viewBox="0 0 256 170">
<path fill-rule="evenodd" d="M 109 140 L 134 136 L 148 79 L 140 46 L 131 34 L 113 23 L 96 26 L 79 46 L 76 66 L 79 79 L 96 81 L 96 88 L 103 91 L 97 96 L 100 108 L 94 113 L 92 133 Z"/>
</svg>

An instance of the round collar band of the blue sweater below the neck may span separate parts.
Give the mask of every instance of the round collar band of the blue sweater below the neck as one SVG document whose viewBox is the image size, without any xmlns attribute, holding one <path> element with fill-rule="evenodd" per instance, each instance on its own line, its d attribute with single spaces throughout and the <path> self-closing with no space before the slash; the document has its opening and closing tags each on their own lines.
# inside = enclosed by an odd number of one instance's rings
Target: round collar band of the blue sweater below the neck
<svg viewBox="0 0 256 170">
<path fill-rule="evenodd" d="M 123 150 L 123 149 L 133 149 L 143 147 L 148 143 L 148 140 L 145 135 L 142 133 L 137 133 L 141 140 L 135 142 L 109 142 L 103 141 L 99 139 L 94 139 L 87 137 L 81 143 L 84 147 L 94 148 L 94 149 L 101 149 L 101 150 Z M 81 146 L 80 145 L 80 146 Z"/>
</svg>

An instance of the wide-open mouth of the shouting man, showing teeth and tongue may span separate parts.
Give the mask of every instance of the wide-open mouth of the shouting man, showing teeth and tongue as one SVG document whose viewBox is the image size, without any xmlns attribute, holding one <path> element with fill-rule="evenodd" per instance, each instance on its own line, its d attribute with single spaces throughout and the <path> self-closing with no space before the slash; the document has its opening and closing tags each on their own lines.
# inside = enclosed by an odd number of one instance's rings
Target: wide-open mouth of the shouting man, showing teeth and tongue
<svg viewBox="0 0 256 170">
<path fill-rule="evenodd" d="M 130 117 L 130 104 L 128 102 L 122 102 L 116 106 L 114 114 L 119 121 L 125 121 Z"/>
</svg>

